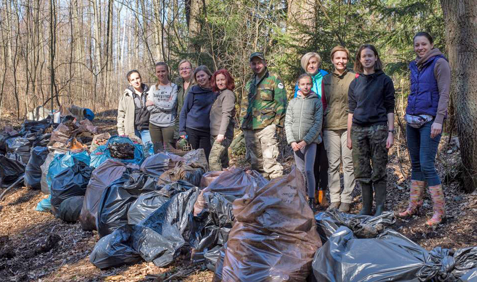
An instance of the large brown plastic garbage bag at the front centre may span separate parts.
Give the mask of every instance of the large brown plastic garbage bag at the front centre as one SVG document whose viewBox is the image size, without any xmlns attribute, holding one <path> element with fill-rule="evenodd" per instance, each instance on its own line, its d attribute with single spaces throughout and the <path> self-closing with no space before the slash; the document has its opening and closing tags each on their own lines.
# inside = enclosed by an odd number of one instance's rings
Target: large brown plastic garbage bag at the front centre
<svg viewBox="0 0 477 282">
<path fill-rule="evenodd" d="M 305 282 L 321 247 L 305 194 L 303 176 L 294 169 L 236 199 L 236 222 L 214 281 Z"/>
</svg>

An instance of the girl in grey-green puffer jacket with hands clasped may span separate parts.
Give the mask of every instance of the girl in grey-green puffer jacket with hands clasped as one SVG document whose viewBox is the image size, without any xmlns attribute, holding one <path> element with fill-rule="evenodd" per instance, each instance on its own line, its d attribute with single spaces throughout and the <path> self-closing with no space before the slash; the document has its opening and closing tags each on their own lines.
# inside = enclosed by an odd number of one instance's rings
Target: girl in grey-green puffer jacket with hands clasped
<svg viewBox="0 0 477 282">
<path fill-rule="evenodd" d="M 313 164 L 316 156 L 316 144 L 321 143 L 321 125 L 323 122 L 323 104 L 312 91 L 312 77 L 302 74 L 298 78 L 298 91 L 290 101 L 285 116 L 287 141 L 292 146 L 296 168 L 305 177 L 308 203 L 315 212 L 313 199 L 315 177 Z"/>
</svg>

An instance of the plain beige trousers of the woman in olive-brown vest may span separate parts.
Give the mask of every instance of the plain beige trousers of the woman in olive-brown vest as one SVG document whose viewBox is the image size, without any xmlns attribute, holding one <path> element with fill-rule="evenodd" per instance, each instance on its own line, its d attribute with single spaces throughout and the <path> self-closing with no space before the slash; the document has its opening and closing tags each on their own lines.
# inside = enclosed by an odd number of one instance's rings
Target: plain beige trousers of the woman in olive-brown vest
<svg viewBox="0 0 477 282">
<path fill-rule="evenodd" d="M 351 203 L 355 187 L 352 151 L 346 146 L 346 130 L 324 130 L 323 140 L 328 156 L 328 186 L 331 202 Z M 340 163 L 343 162 L 344 189 L 340 194 Z"/>
</svg>

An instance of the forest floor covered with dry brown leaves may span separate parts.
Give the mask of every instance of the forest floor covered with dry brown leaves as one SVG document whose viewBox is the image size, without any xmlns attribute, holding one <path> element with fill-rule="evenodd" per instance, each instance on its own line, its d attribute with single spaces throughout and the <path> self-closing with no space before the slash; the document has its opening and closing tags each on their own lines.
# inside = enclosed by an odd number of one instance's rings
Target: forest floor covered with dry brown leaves
<svg viewBox="0 0 477 282">
<path fill-rule="evenodd" d="M 108 115 L 109 114 L 109 115 Z M 114 112 L 98 115 L 94 121 L 100 132 L 115 132 Z M 6 125 L 19 127 L 12 119 L 1 119 Z M 285 150 L 286 151 L 286 150 Z M 287 151 L 288 152 L 288 151 Z M 293 157 L 280 157 L 290 172 Z M 234 157 L 232 165 L 245 166 L 243 156 Z M 461 248 L 477 246 L 477 193 L 465 194 L 460 187 L 459 141 L 443 137 L 437 157 L 437 168 L 443 179 L 448 219 L 437 228 L 425 228 L 432 215 L 432 201 L 426 193 L 421 216 L 398 219 L 392 227 L 426 249 L 441 246 Z M 386 207 L 402 211 L 407 207 L 409 158 L 404 141 L 397 142 L 389 153 L 388 195 Z M 351 213 L 361 208 L 360 191 L 353 192 Z M 89 254 L 99 240 L 96 231 L 83 231 L 79 223 L 69 224 L 46 212 L 36 212 L 37 203 L 46 196 L 38 190 L 19 187 L 0 202 L 0 277 L 2 281 L 184 281 L 209 282 L 213 272 L 203 264 L 191 264 L 185 251 L 168 267 L 141 263 L 100 270 L 90 263 Z"/>
</svg>

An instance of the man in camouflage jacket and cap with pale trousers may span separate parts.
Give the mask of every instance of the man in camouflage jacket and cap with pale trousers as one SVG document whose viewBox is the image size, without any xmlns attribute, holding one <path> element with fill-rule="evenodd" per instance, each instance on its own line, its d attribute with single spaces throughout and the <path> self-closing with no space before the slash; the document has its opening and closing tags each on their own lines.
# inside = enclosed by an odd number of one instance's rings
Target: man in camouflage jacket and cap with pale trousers
<svg viewBox="0 0 477 282">
<path fill-rule="evenodd" d="M 267 69 L 262 53 L 250 55 L 254 72 L 245 85 L 240 105 L 240 123 L 245 138 L 246 158 L 265 177 L 282 176 L 278 158 L 276 127 L 282 127 L 287 110 L 287 94 L 281 78 Z"/>
</svg>

